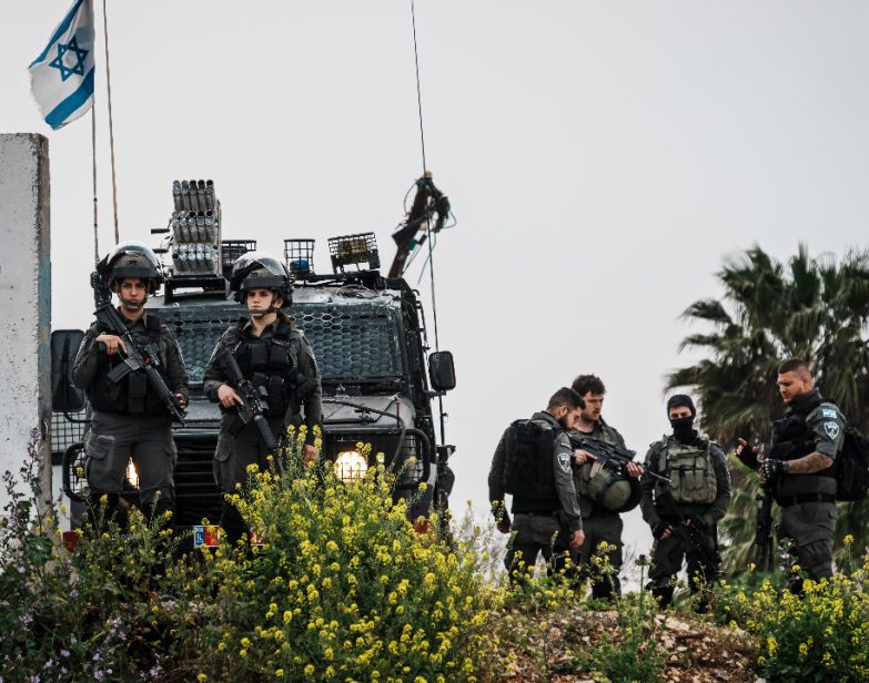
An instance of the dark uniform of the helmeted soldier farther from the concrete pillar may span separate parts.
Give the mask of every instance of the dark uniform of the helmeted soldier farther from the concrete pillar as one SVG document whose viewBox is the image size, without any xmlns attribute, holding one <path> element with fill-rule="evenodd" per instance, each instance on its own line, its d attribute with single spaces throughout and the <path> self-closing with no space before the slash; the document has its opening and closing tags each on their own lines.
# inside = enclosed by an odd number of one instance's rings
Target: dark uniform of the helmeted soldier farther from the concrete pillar
<svg viewBox="0 0 869 683">
<path fill-rule="evenodd" d="M 214 351 L 211 355 L 205 373 L 203 375 L 203 391 L 214 402 L 218 402 L 218 389 L 228 381 L 226 374 L 216 363 L 218 357 L 228 349 L 234 349 L 240 342 L 247 339 L 267 340 L 279 334 L 282 325 L 290 325 L 287 355 L 296 373 L 301 373 L 306 380 L 312 381 L 312 389 L 305 393 L 302 400 L 304 407 L 304 424 L 307 426 L 307 442 L 313 442 L 313 428 L 320 425 L 322 417 L 322 388 L 320 384 L 320 370 L 314 358 L 314 351 L 311 348 L 305 336 L 294 325 L 289 323 L 289 318 L 279 314 L 277 318 L 269 325 L 260 337 L 253 334 L 253 324 L 250 319 L 242 318 L 239 326 L 228 329 L 218 340 Z M 280 439 L 283 430 L 293 419 L 292 407 L 285 415 L 266 416 L 269 427 L 275 438 Z M 262 442 L 256 426 L 251 421 L 244 426 L 236 436 L 232 436 L 239 426 L 239 416 L 235 410 L 223 410 L 221 417 L 220 436 L 218 437 L 218 448 L 214 452 L 214 481 L 224 492 L 234 491 L 236 485 L 245 486 L 247 483 L 247 466 L 257 465 L 260 469 L 267 467 L 266 457 L 270 451 Z M 230 504 L 224 504 L 223 519 L 221 521 L 224 531 L 231 541 L 241 538 L 245 533 L 245 527 L 238 510 Z"/>
</svg>

